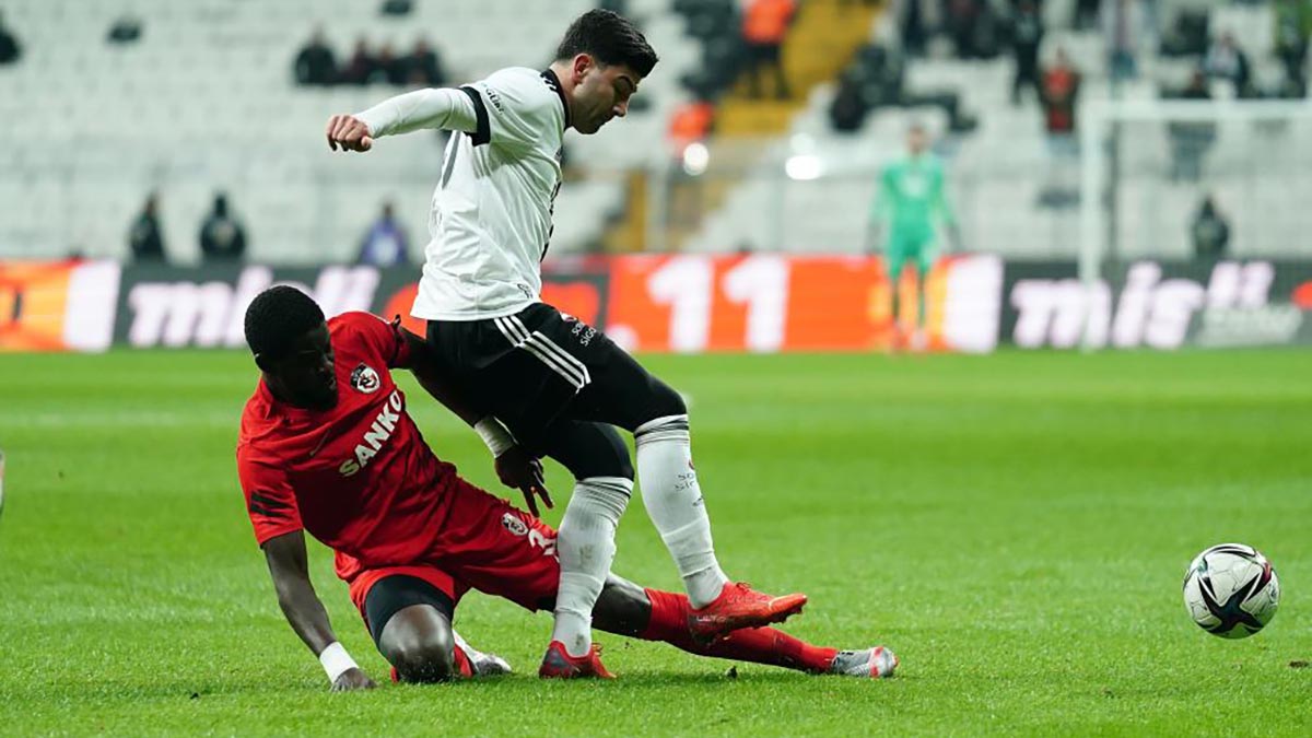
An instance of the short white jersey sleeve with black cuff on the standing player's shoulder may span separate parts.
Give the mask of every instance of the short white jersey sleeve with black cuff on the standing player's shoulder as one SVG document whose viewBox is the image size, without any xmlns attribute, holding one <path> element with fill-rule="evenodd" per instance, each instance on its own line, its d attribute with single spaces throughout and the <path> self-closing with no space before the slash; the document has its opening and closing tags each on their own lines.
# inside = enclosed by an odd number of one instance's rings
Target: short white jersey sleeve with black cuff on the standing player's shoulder
<svg viewBox="0 0 1312 738">
<path fill-rule="evenodd" d="M 531 70 L 501 70 L 461 88 L 474 104 L 474 146 L 537 146 L 550 131 L 564 130 L 564 102 L 547 80 Z M 551 130 L 551 129 L 555 130 Z"/>
</svg>

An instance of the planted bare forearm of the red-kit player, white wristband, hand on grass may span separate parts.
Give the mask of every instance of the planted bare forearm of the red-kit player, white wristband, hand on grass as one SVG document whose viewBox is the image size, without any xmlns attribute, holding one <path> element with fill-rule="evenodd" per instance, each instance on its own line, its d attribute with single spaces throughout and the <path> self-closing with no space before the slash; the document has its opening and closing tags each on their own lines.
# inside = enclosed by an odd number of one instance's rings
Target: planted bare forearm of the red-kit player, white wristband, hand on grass
<svg viewBox="0 0 1312 738">
<path fill-rule="evenodd" d="M 310 582 L 304 532 L 295 531 L 269 538 L 264 542 L 264 558 L 269 565 L 273 588 L 278 592 L 282 615 L 311 653 L 319 657 L 333 692 L 373 688 L 374 682 L 337 642 L 328 622 L 328 611 Z"/>
</svg>

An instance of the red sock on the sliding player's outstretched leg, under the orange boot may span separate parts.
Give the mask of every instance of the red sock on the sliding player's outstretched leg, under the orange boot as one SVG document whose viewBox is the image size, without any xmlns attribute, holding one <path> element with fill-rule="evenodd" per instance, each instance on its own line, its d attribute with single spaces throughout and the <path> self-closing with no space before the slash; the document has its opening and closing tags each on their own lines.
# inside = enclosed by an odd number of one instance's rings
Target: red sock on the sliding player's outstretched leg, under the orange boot
<svg viewBox="0 0 1312 738">
<path fill-rule="evenodd" d="M 838 654 L 837 649 L 812 646 L 774 628 L 735 630 L 728 638 L 702 646 L 693 641 L 687 632 L 691 605 L 687 604 L 686 595 L 647 590 L 647 599 L 652 603 L 652 617 L 647 630 L 639 636 L 644 641 L 664 641 L 703 657 L 766 663 L 811 672 L 829 671 L 833 657 Z"/>
</svg>

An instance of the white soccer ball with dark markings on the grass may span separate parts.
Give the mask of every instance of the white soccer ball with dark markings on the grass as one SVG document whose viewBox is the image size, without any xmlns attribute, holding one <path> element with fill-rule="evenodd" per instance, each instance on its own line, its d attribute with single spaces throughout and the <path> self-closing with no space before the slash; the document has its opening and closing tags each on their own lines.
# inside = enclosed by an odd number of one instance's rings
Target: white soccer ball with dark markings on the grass
<svg viewBox="0 0 1312 738">
<path fill-rule="evenodd" d="M 1275 570 L 1253 546 L 1212 546 L 1185 573 L 1185 608 L 1212 636 L 1248 638 L 1271 621 L 1279 604 Z"/>
</svg>

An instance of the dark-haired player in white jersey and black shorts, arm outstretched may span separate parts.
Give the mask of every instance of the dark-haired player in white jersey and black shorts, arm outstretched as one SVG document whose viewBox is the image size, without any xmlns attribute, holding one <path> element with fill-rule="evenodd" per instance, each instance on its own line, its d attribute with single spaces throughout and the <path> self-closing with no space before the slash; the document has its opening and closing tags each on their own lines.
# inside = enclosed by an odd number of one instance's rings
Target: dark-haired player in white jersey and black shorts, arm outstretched
<svg viewBox="0 0 1312 738">
<path fill-rule="evenodd" d="M 539 675 L 588 678 L 606 674 L 590 613 L 635 477 L 614 425 L 634 433 L 643 503 L 684 579 L 694 638 L 779 622 L 807 599 L 729 582 L 715 557 L 680 394 L 605 334 L 539 299 L 564 131 L 593 134 L 623 117 L 657 60 L 642 33 L 609 11 L 580 16 L 555 59 L 544 71 L 510 67 L 457 89 L 409 92 L 333 116 L 327 135 L 333 150 L 369 151 L 386 135 L 453 131 L 411 314 L 428 320 L 434 361 L 488 414 L 476 429 L 493 454 L 517 441 L 575 475 Z"/>
</svg>

